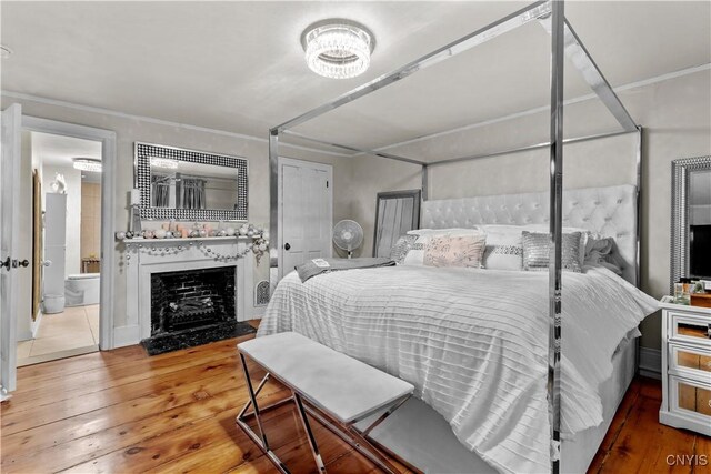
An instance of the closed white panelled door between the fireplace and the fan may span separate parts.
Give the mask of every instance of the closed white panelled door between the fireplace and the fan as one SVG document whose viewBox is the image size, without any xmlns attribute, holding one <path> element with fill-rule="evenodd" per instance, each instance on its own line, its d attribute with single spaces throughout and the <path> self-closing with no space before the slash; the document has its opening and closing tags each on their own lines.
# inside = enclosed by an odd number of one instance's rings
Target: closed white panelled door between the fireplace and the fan
<svg viewBox="0 0 711 474">
<path fill-rule="evenodd" d="M 279 158 L 279 279 L 307 260 L 331 256 L 333 169 Z"/>
</svg>

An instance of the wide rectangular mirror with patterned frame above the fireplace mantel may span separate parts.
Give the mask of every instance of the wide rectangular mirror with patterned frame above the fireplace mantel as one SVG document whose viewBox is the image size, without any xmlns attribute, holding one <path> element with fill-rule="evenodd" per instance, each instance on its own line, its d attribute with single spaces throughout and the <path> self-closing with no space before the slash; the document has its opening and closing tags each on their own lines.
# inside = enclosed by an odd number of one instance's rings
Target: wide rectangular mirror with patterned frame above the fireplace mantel
<svg viewBox="0 0 711 474">
<path fill-rule="evenodd" d="M 136 143 L 141 219 L 247 220 L 247 160 Z"/>
</svg>

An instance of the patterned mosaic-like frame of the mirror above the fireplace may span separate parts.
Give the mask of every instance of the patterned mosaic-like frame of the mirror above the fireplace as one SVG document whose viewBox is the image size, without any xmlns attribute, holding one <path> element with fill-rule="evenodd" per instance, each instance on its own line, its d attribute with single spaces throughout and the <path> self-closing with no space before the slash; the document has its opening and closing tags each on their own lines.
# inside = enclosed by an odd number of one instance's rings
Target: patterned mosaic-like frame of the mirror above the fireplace
<svg viewBox="0 0 711 474">
<path fill-rule="evenodd" d="M 150 159 L 167 158 L 170 160 L 187 161 L 191 163 L 212 164 L 217 167 L 234 168 L 237 173 L 237 209 L 174 209 L 151 206 L 151 167 Z M 147 220 L 177 220 L 177 221 L 247 221 L 248 204 L 248 164 L 241 157 L 209 153 L 204 151 L 187 150 L 176 147 L 166 147 L 154 143 L 136 142 L 134 144 L 134 186 L 140 190 L 141 219 Z"/>
</svg>

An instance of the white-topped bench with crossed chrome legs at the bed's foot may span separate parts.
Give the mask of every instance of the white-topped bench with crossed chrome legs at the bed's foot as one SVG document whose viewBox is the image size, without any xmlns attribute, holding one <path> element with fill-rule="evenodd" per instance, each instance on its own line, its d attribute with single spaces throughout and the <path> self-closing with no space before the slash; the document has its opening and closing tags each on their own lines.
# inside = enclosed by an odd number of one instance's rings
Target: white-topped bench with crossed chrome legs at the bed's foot
<svg viewBox="0 0 711 474">
<path fill-rule="evenodd" d="M 238 344 L 238 350 L 250 400 L 237 416 L 237 424 L 279 471 L 289 473 L 269 445 L 261 414 L 293 401 L 320 472 L 326 472 L 326 466 L 307 413 L 384 471 L 399 472 L 368 441 L 368 434 L 410 397 L 414 390 L 412 384 L 293 332 L 253 339 Z M 267 371 L 257 389 L 252 385 L 246 356 Z M 257 395 L 270 377 L 290 389 L 292 396 L 260 407 Z M 253 411 L 248 413 L 250 405 Z M 356 428 L 356 423 L 379 412 L 383 412 L 382 415 L 370 426 Z M 259 435 L 247 423 L 250 416 L 257 418 Z"/>
</svg>

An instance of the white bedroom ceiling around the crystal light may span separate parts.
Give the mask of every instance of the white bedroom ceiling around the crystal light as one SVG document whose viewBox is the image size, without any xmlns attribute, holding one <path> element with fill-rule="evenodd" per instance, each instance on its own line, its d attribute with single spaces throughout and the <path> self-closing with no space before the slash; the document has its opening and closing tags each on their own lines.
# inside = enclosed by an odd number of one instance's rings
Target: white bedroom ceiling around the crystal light
<svg viewBox="0 0 711 474">
<path fill-rule="evenodd" d="M 2 90 L 266 138 L 270 127 L 528 2 L 2 1 Z M 614 85 L 711 62 L 711 2 L 567 2 Z M 324 18 L 365 24 L 370 70 L 312 73 L 299 42 Z M 548 103 L 550 39 L 537 23 L 499 37 L 300 131 L 379 147 Z M 565 97 L 589 93 L 567 64 Z"/>
</svg>

